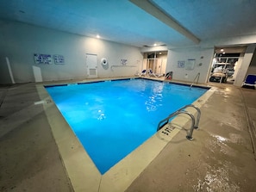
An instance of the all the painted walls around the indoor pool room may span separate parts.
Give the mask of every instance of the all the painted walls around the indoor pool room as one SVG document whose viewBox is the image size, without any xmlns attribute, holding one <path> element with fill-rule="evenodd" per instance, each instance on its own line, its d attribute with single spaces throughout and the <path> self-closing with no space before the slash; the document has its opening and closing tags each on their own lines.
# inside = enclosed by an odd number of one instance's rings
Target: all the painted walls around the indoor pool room
<svg viewBox="0 0 256 192">
<path fill-rule="evenodd" d="M 214 47 L 225 45 L 240 45 L 248 43 L 247 39 L 202 41 L 200 47 L 167 48 L 152 47 L 138 48 L 107 40 L 98 40 L 78 34 L 69 34 L 48 28 L 40 28 L 22 22 L 0 20 L 0 84 L 11 84 L 6 58 L 13 73 L 15 83 L 34 82 L 33 66 L 39 67 L 42 81 L 86 79 L 86 53 L 97 55 L 98 77 L 128 77 L 141 71 L 143 53 L 152 51 L 167 51 L 166 69 L 173 71 L 173 79 L 192 82 L 200 72 L 200 83 L 208 81 L 209 67 L 214 55 Z M 252 47 L 251 47 L 252 46 Z M 203 48 L 205 47 L 205 48 Z M 253 49 L 254 48 L 254 49 Z M 255 45 L 250 45 L 245 53 L 242 68 L 234 85 L 240 86 L 248 72 L 254 72 L 251 62 Z M 65 58 L 65 65 L 36 65 L 34 53 L 59 54 Z M 247 57 L 248 56 L 248 57 Z M 103 67 L 101 59 L 108 59 L 109 65 Z M 122 66 L 122 59 L 127 60 L 127 66 Z M 195 68 L 187 70 L 178 68 L 178 61 L 187 62 L 195 59 Z"/>
</svg>

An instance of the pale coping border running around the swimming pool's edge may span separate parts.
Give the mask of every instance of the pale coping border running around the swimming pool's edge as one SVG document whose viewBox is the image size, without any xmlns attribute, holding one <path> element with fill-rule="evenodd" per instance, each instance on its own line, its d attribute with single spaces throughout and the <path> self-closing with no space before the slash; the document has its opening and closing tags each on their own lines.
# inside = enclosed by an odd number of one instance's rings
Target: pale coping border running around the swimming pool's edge
<svg viewBox="0 0 256 192">
<path fill-rule="evenodd" d="M 106 81 L 108 80 L 109 79 L 106 79 Z M 94 83 L 93 80 L 90 82 Z M 82 83 L 84 83 L 84 81 Z M 36 84 L 36 88 L 41 101 L 51 100 L 51 96 L 47 94 L 44 84 Z M 193 104 L 200 108 L 214 91 L 215 88 L 211 87 L 203 96 L 199 97 L 196 102 L 193 102 Z M 101 175 L 87 152 L 85 152 L 84 147 L 78 141 L 76 135 L 72 132 L 71 127 L 69 127 L 60 114 L 57 106 L 53 102 L 42 103 L 47 115 L 47 120 L 52 129 L 53 138 L 59 148 L 60 158 L 66 168 L 66 173 L 71 180 L 74 191 L 88 190 L 92 192 L 104 192 L 109 191 L 109 189 L 111 189 L 111 191 L 124 191 L 179 132 L 177 129 L 170 134 L 170 140 L 167 142 L 159 138 L 159 133 L 155 133 L 150 139 L 147 139 L 143 145 L 137 147 L 134 152 L 128 154 L 126 158 L 123 158 L 122 161 L 113 166 L 105 174 Z M 195 113 L 195 111 L 190 110 L 191 109 L 188 109 L 190 113 Z M 176 119 L 177 118 L 173 121 L 178 121 Z M 183 121 L 183 123 L 187 123 L 188 121 Z M 155 147 L 154 150 L 152 150 L 153 147 Z M 142 157 L 139 158 L 140 164 L 138 164 L 138 157 Z M 74 164 L 76 165 L 74 166 Z"/>
</svg>

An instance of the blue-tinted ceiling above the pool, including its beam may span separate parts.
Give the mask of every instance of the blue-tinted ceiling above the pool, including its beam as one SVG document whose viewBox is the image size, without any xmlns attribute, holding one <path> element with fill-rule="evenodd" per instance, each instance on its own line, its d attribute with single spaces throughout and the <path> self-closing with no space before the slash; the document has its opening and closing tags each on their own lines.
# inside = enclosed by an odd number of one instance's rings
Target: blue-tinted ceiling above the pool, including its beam
<svg viewBox="0 0 256 192">
<path fill-rule="evenodd" d="M 0 18 L 131 46 L 256 34 L 255 0 L 3 0 Z"/>
</svg>

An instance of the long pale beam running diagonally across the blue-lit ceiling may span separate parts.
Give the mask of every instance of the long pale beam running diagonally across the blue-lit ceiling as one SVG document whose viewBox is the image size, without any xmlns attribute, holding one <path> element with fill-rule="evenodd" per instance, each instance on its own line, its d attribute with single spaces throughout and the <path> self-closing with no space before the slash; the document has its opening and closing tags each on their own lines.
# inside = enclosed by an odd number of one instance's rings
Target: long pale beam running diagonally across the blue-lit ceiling
<svg viewBox="0 0 256 192">
<path fill-rule="evenodd" d="M 169 27 L 175 29 L 178 31 L 178 33 L 183 34 L 188 39 L 192 40 L 196 44 L 200 43 L 200 40 L 197 38 L 196 35 L 192 34 L 188 29 L 184 28 L 182 25 L 180 25 L 176 20 L 171 16 L 167 15 L 164 10 L 159 9 L 159 7 L 155 6 L 153 3 L 151 3 L 148 0 L 129 0 L 131 3 L 134 3 L 140 9 L 145 10 L 150 15 L 153 15 L 159 21 L 164 22 Z M 172 1 L 170 1 L 172 2 Z"/>
</svg>

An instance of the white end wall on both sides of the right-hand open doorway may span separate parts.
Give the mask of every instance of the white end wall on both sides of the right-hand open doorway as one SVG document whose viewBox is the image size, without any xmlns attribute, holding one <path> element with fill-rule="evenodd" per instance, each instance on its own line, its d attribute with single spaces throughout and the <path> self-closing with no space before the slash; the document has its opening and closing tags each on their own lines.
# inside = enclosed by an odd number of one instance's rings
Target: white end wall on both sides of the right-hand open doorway
<svg viewBox="0 0 256 192">
<path fill-rule="evenodd" d="M 236 41 L 234 41 L 236 42 Z M 241 41 L 240 43 L 242 43 Z M 211 48 L 212 47 L 212 48 Z M 166 72 L 173 71 L 173 79 L 184 82 L 193 82 L 197 73 L 200 72 L 199 83 L 209 82 L 209 70 L 214 57 L 214 45 L 211 47 L 190 47 L 169 49 L 167 57 Z M 241 86 L 248 73 L 254 73 L 253 53 L 255 44 L 249 44 L 245 53 L 240 55 L 240 68 L 234 79 L 235 86 Z M 188 62 L 189 59 L 195 59 L 193 70 L 187 70 L 186 67 L 179 68 L 178 61 Z"/>
</svg>

